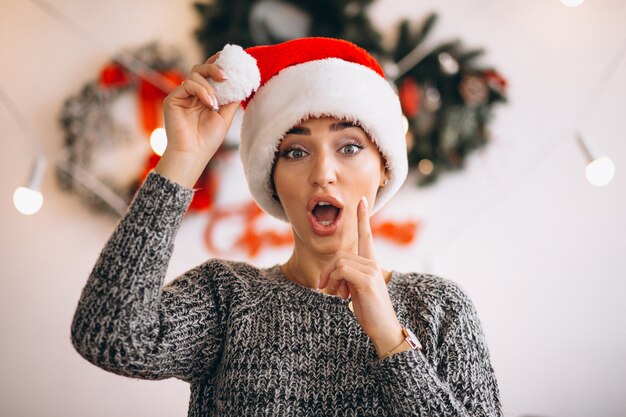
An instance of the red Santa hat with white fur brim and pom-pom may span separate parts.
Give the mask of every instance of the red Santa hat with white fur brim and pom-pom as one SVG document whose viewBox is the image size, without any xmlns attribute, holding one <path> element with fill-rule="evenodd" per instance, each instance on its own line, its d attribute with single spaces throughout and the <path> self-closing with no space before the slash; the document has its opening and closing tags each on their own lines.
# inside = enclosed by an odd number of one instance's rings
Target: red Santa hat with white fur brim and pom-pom
<svg viewBox="0 0 626 417">
<path fill-rule="evenodd" d="M 400 101 L 381 66 L 362 48 L 332 38 L 301 38 L 243 50 L 227 45 L 216 64 L 228 80 L 209 80 L 220 104 L 242 101 L 240 155 L 250 191 L 287 220 L 273 197 L 272 167 L 285 133 L 310 117 L 357 122 L 383 155 L 388 183 L 371 214 L 398 191 L 408 171 Z"/>
</svg>

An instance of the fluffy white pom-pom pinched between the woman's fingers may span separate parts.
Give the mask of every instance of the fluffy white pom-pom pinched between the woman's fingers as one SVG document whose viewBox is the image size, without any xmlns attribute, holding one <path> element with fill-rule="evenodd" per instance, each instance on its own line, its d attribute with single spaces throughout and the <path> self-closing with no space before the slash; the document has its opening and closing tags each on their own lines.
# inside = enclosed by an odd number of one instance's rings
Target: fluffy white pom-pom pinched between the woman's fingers
<svg viewBox="0 0 626 417">
<path fill-rule="evenodd" d="M 241 46 L 227 44 L 215 63 L 226 73 L 228 79 L 215 81 L 207 78 L 215 89 L 220 106 L 234 101 L 245 100 L 261 84 L 261 73 L 256 59 Z"/>
</svg>

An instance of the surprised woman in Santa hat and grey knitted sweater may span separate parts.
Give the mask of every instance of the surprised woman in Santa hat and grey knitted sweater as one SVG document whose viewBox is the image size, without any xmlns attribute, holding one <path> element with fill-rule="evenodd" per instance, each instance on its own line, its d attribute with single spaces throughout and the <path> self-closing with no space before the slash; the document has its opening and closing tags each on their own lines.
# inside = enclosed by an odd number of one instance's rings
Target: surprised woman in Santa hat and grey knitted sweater
<svg viewBox="0 0 626 417">
<path fill-rule="evenodd" d="M 369 216 L 407 166 L 380 66 L 336 39 L 230 59 L 235 49 L 166 98 L 167 150 L 81 294 L 77 351 L 119 375 L 189 382 L 189 416 L 502 415 L 464 291 L 375 260 Z M 242 71 L 251 63 L 257 73 Z M 212 259 L 161 288 L 192 187 L 239 101 L 250 190 L 291 224 L 293 254 L 264 269 Z"/>
</svg>

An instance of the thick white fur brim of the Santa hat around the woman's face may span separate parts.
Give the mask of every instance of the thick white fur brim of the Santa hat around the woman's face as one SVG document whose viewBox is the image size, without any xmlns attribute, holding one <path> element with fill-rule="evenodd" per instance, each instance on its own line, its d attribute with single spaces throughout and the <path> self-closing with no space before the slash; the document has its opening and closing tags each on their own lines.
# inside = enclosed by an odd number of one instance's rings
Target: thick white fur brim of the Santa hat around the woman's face
<svg viewBox="0 0 626 417">
<path fill-rule="evenodd" d="M 408 172 L 406 140 L 398 96 L 372 69 L 338 58 L 287 67 L 255 93 L 244 112 L 240 156 L 250 192 L 270 215 L 287 221 L 272 198 L 270 175 L 280 140 L 307 117 L 358 121 L 384 156 L 388 184 L 370 214 L 398 191 Z"/>
</svg>

